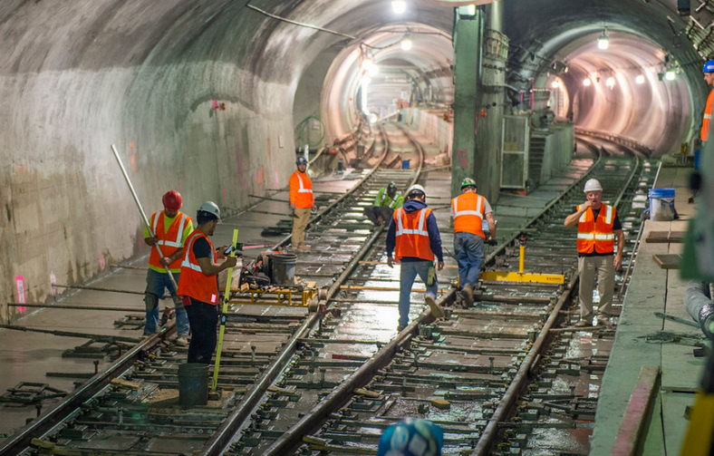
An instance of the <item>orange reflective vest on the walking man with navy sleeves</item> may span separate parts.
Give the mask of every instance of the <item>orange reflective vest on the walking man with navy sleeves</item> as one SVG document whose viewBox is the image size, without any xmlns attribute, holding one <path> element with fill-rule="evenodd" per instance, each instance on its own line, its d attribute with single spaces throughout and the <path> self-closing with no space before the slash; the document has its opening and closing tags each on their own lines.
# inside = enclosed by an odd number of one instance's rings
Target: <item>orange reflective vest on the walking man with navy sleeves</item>
<svg viewBox="0 0 714 456">
<path fill-rule="evenodd" d="M 394 224 L 397 228 L 394 258 L 397 261 L 402 257 L 434 261 L 434 253 L 431 251 L 429 231 L 427 230 L 427 218 L 430 213 L 431 209 L 428 208 L 413 212 L 407 212 L 404 208 L 394 211 Z"/>
</svg>

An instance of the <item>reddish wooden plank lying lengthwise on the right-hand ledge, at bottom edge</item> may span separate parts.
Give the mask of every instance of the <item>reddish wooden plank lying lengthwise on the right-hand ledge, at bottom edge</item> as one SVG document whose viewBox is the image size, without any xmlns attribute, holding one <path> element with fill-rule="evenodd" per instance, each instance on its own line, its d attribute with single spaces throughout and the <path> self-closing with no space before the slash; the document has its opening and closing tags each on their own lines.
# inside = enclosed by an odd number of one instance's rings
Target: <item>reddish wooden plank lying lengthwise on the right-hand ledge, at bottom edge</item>
<svg viewBox="0 0 714 456">
<path fill-rule="evenodd" d="M 647 412 L 650 410 L 657 380 L 660 376 L 660 367 L 656 365 L 643 365 L 637 384 L 627 403 L 620 430 L 610 451 L 611 456 L 632 456 L 637 450 L 642 430 L 647 426 Z"/>
</svg>

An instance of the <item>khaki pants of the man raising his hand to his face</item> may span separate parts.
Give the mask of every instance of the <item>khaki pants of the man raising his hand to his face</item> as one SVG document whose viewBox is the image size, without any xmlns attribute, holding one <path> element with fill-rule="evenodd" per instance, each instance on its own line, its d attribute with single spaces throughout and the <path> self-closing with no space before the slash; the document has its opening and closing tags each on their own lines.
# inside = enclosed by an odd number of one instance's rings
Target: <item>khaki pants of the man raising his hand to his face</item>
<svg viewBox="0 0 714 456">
<path fill-rule="evenodd" d="M 598 315 L 612 315 L 613 292 L 615 289 L 615 267 L 613 256 L 579 257 L 580 272 L 580 318 L 585 320 L 593 316 L 593 288 L 597 278 L 597 292 L 600 295 Z"/>
</svg>

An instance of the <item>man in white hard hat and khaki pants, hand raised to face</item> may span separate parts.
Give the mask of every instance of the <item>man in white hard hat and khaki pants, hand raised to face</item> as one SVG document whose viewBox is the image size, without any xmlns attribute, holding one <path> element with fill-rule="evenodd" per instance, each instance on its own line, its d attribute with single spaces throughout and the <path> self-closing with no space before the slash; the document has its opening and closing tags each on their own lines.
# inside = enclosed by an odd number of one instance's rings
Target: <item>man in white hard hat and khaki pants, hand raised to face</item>
<svg viewBox="0 0 714 456">
<path fill-rule="evenodd" d="M 597 179 L 585 182 L 587 200 L 565 218 L 567 228 L 578 228 L 578 271 L 580 273 L 580 321 L 577 327 L 593 325 L 593 288 L 595 278 L 600 294 L 597 320 L 610 326 L 612 315 L 615 271 L 622 266 L 624 234 L 617 210 L 603 204 L 603 186 Z M 617 254 L 614 241 L 617 238 Z M 614 255 L 613 255 L 614 254 Z"/>
</svg>

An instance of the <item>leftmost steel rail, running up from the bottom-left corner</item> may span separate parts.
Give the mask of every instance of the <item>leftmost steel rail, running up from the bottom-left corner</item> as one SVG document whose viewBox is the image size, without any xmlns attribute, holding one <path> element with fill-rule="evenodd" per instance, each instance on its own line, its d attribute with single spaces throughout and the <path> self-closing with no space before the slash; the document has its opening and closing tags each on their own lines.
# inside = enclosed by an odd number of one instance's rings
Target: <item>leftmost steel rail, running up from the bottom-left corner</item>
<svg viewBox="0 0 714 456">
<path fill-rule="evenodd" d="M 15 456 L 20 454 L 30 446 L 30 442 L 47 432 L 52 431 L 53 427 L 57 426 L 64 419 L 72 414 L 82 403 L 100 393 L 111 379 L 118 377 L 128 370 L 134 361 L 142 352 L 146 352 L 163 340 L 170 334 L 176 331 L 175 326 L 164 326 L 161 333 L 151 335 L 140 344 L 134 345 L 125 353 L 119 360 L 108 366 L 104 372 L 94 375 L 87 382 L 82 384 L 78 389 L 74 390 L 70 395 L 57 404 L 53 409 L 43 413 L 36 420 L 25 426 L 10 439 L 2 442 L 0 446 L 0 455 Z"/>
</svg>

